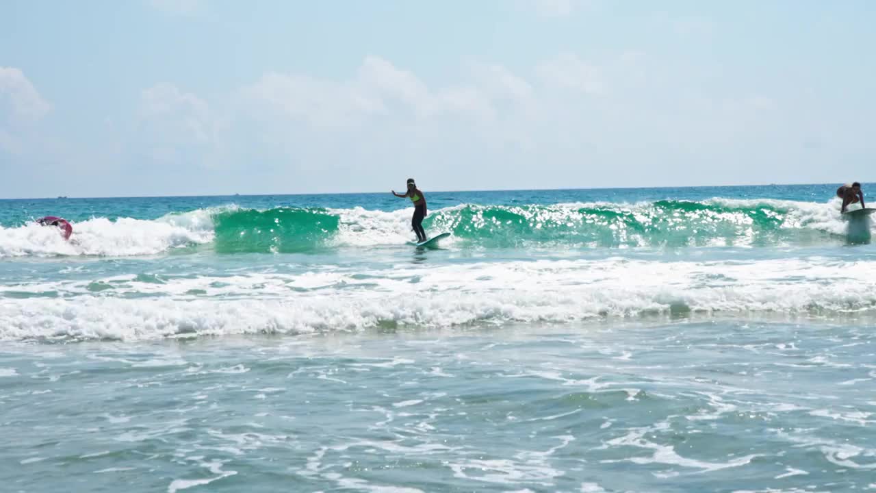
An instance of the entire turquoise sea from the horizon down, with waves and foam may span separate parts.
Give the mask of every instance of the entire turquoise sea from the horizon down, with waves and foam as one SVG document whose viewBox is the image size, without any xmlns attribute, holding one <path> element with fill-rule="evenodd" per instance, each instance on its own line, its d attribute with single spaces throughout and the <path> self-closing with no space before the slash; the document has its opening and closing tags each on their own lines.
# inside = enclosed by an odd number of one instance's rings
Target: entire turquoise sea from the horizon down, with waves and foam
<svg viewBox="0 0 876 493">
<path fill-rule="evenodd" d="M 0 201 L 0 482 L 876 489 L 835 189 L 425 190 L 434 250 L 388 193 Z"/>
</svg>

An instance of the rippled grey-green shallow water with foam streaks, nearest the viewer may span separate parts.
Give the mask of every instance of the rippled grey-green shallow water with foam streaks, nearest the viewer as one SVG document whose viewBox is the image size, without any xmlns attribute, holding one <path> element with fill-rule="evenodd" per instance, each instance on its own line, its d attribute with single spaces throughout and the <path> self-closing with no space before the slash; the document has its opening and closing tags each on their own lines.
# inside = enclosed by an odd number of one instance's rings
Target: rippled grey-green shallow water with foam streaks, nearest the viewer
<svg viewBox="0 0 876 493">
<path fill-rule="evenodd" d="M 872 489 L 872 331 L 676 320 L 6 347 L 21 491 Z"/>
</svg>

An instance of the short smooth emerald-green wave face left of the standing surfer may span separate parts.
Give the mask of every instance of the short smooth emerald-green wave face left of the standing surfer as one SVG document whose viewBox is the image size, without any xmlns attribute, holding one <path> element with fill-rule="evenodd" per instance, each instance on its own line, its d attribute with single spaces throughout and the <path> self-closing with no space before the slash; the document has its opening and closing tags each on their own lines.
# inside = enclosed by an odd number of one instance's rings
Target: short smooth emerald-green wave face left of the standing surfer
<svg viewBox="0 0 876 493">
<path fill-rule="evenodd" d="M 216 252 L 288 254 L 324 247 L 337 232 L 338 217 L 320 209 L 284 207 L 225 211 L 213 222 Z"/>
</svg>

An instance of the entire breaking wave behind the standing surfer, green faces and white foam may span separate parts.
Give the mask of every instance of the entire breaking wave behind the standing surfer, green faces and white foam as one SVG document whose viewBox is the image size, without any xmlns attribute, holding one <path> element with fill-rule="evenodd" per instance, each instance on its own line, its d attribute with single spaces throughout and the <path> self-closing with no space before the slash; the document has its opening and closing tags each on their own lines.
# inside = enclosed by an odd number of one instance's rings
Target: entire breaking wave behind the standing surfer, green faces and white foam
<svg viewBox="0 0 876 493">
<path fill-rule="evenodd" d="M 661 200 L 640 204 L 477 205 L 432 211 L 427 232 L 455 247 L 769 247 L 869 239 L 869 219 L 844 221 L 838 204 L 771 199 Z M 143 220 L 92 218 L 64 241 L 53 228 L 0 228 L 0 257 L 150 255 L 212 244 L 218 253 L 292 253 L 401 245 L 411 211 L 237 206 Z"/>
</svg>

